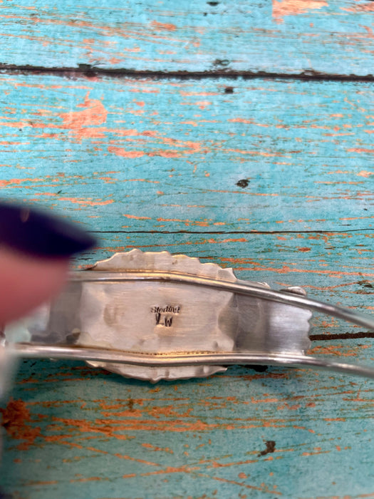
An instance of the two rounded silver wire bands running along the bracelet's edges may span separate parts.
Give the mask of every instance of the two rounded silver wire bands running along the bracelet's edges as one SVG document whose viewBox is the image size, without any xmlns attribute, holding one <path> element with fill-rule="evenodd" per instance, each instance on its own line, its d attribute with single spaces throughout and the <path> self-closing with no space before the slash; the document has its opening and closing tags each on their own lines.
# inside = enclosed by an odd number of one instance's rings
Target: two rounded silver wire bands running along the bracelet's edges
<svg viewBox="0 0 374 499">
<path fill-rule="evenodd" d="M 244 282 L 230 282 L 210 277 L 200 277 L 177 272 L 159 271 L 126 271 L 107 272 L 87 270 L 77 272 L 71 276 L 73 282 L 160 282 L 162 284 L 187 284 L 209 287 L 219 291 L 234 292 L 237 294 L 256 297 L 258 299 L 279 302 L 314 312 L 320 312 L 339 319 L 365 326 L 374 330 L 374 319 L 365 314 L 318 302 L 291 291 L 274 291 L 265 287 Z M 230 365 L 230 364 L 269 364 L 275 366 L 313 367 L 330 369 L 332 371 L 355 374 L 374 378 L 374 369 L 368 366 L 355 366 L 341 362 L 316 359 L 303 354 L 282 354 L 274 351 L 230 351 L 210 352 L 191 351 L 188 353 L 145 354 L 134 351 L 104 349 L 98 347 L 80 347 L 63 345 L 41 345 L 16 343 L 8 344 L 9 354 L 27 358 L 76 359 L 84 361 L 110 362 L 114 364 L 130 364 L 147 367 L 175 367 L 175 366 L 203 366 L 203 365 Z"/>
</svg>

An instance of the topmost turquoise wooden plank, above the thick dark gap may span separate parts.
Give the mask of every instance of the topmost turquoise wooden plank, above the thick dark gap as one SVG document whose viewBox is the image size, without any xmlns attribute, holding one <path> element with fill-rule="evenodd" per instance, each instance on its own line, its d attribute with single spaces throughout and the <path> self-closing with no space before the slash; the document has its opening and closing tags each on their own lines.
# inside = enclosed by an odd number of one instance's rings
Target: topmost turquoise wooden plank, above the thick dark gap
<svg viewBox="0 0 374 499">
<path fill-rule="evenodd" d="M 3 2 L 1 63 L 373 76 L 369 0 Z"/>
</svg>

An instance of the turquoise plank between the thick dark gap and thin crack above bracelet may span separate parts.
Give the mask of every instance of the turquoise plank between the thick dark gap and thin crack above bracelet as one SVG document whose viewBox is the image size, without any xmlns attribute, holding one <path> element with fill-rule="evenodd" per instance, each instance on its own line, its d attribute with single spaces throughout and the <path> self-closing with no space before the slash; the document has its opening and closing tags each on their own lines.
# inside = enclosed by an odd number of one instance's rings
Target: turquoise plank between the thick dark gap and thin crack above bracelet
<svg viewBox="0 0 374 499">
<path fill-rule="evenodd" d="M 2 73 L 0 90 L 3 197 L 115 232 L 372 230 L 370 83 Z"/>
</svg>

